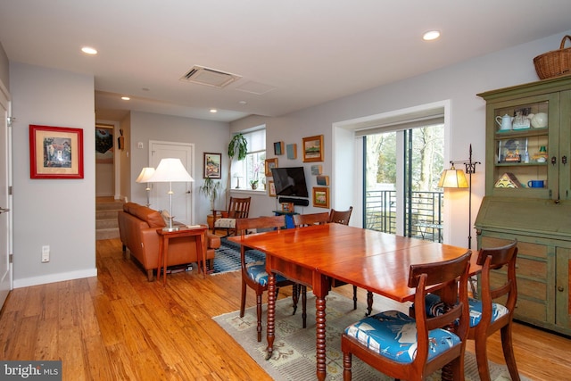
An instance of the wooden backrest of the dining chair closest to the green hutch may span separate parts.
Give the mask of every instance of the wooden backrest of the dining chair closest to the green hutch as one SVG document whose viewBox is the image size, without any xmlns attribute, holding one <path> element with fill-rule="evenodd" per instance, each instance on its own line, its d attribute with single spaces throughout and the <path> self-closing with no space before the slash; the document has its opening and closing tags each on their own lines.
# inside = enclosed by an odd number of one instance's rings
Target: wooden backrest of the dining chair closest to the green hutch
<svg viewBox="0 0 571 381">
<path fill-rule="evenodd" d="M 478 252 L 476 263 L 482 266 L 481 279 L 481 299 L 482 299 L 482 319 L 481 322 L 488 322 L 492 317 L 492 301 L 504 295 L 507 296 L 505 303 L 502 303 L 509 310 L 510 314 L 516 307 L 517 302 L 517 281 L 516 281 L 516 259 L 517 240 L 501 247 L 483 248 Z M 502 286 L 492 286 L 492 269 L 501 269 L 507 266 L 507 279 Z"/>
</svg>

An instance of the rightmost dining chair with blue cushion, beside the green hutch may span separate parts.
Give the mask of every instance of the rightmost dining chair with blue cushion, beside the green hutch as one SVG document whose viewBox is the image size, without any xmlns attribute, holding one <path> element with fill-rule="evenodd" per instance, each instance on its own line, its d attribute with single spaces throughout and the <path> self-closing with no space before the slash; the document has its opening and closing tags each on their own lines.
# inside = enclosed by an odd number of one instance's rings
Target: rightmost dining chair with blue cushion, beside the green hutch
<svg viewBox="0 0 571 381">
<path fill-rule="evenodd" d="M 482 266 L 481 299 L 468 299 L 470 305 L 468 339 L 475 341 L 478 373 L 483 381 L 490 381 L 486 338 L 498 330 L 501 330 L 501 347 L 509 376 L 512 380 L 519 380 L 511 342 L 511 322 L 517 302 L 516 259 L 517 241 L 501 247 L 480 249 L 478 252 L 477 264 Z M 504 266 L 507 269 L 497 271 Z M 499 298 L 501 303 L 493 302 Z M 427 295 L 426 313 L 437 316 L 442 311 L 443 303 L 440 297 L 435 294 Z"/>
</svg>

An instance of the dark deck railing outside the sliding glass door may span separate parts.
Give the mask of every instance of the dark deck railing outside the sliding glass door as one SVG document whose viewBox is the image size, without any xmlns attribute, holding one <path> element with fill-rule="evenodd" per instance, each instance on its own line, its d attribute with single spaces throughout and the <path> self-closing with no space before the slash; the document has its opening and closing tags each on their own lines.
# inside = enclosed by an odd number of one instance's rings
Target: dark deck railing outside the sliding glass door
<svg viewBox="0 0 571 381">
<path fill-rule="evenodd" d="M 410 205 L 410 236 L 443 241 L 443 192 L 413 192 Z M 368 191 L 365 228 L 396 233 L 396 191 Z"/>
</svg>

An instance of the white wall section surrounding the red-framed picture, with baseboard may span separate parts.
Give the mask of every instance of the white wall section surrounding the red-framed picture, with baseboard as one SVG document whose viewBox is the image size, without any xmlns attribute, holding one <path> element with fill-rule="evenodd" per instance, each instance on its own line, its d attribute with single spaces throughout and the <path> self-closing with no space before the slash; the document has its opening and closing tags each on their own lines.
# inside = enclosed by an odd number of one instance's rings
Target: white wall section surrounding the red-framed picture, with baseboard
<svg viewBox="0 0 571 381">
<path fill-rule="evenodd" d="M 95 87 L 92 76 L 10 63 L 14 287 L 79 277 L 95 268 Z M 83 129 L 84 178 L 30 179 L 29 125 Z M 41 248 L 51 259 L 41 263 Z"/>
</svg>

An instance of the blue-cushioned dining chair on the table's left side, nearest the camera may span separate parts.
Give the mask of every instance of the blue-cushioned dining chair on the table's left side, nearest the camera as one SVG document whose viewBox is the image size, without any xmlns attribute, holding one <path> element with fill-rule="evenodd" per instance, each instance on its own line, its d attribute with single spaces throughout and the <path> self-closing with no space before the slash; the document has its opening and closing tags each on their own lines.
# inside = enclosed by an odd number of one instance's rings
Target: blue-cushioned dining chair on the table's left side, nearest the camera
<svg viewBox="0 0 571 381">
<path fill-rule="evenodd" d="M 244 236 L 252 229 L 259 230 L 280 230 L 285 227 L 285 216 L 272 216 L 272 217 L 257 217 L 252 219 L 236 219 L 236 231 L 241 236 Z M 244 318 L 244 310 L 246 304 L 246 286 L 249 286 L 256 293 L 256 316 L 258 319 L 257 331 L 258 342 L 261 342 L 261 297 L 264 291 L 268 290 L 268 272 L 266 271 L 265 261 L 247 262 L 245 252 L 248 247 L 244 244 L 240 245 L 240 267 L 242 269 L 242 294 L 240 299 L 240 318 Z M 276 297 L 279 292 L 279 287 L 294 286 L 292 292 L 292 299 L 294 300 L 294 314 L 297 311 L 297 302 L 299 301 L 298 287 L 293 280 L 276 274 Z M 302 288 L 302 324 L 307 327 L 306 321 L 306 304 L 307 295 L 305 287 Z"/>
</svg>

